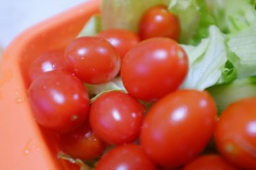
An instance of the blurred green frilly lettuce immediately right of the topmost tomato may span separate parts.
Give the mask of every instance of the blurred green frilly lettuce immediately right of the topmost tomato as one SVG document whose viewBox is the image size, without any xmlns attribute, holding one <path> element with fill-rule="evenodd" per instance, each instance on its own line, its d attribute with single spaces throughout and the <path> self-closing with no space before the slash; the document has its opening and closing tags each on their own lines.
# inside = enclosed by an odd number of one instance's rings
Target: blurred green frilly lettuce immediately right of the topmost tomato
<svg viewBox="0 0 256 170">
<path fill-rule="evenodd" d="M 214 20 L 205 0 L 172 0 L 169 9 L 180 19 L 180 43 L 197 45 L 202 38 L 207 38 Z"/>
</svg>

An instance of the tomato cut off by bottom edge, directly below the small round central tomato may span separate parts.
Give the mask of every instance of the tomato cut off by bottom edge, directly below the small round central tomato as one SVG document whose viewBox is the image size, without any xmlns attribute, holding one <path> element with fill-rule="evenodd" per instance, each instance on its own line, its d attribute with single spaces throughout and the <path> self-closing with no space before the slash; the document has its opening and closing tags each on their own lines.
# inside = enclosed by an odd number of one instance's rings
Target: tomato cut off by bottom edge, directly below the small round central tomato
<svg viewBox="0 0 256 170">
<path fill-rule="evenodd" d="M 140 146 L 117 146 L 99 160 L 95 170 L 156 170 Z"/>
</svg>

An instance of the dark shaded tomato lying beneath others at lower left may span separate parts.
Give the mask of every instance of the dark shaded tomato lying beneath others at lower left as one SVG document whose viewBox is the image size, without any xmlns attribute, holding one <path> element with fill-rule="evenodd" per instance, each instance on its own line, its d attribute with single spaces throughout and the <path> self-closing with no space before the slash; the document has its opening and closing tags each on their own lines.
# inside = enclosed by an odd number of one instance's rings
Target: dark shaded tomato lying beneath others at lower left
<svg viewBox="0 0 256 170">
<path fill-rule="evenodd" d="M 61 134 L 60 145 L 63 152 L 82 160 L 94 159 L 106 148 L 106 144 L 95 136 L 87 123 L 75 131 Z"/>
</svg>

